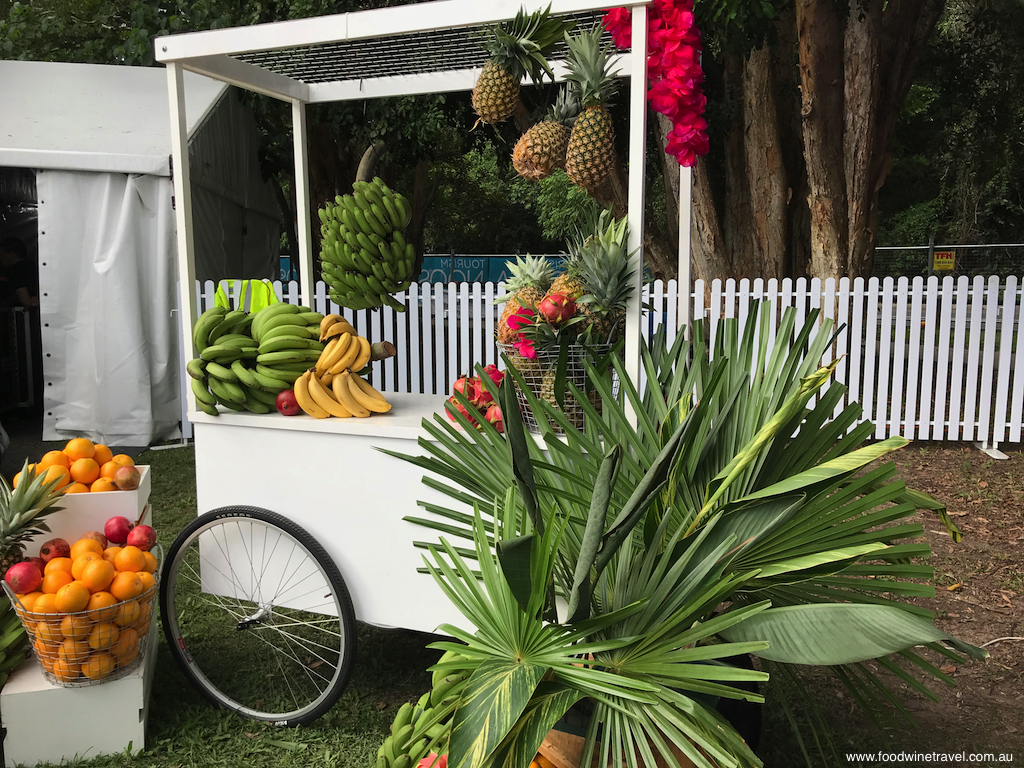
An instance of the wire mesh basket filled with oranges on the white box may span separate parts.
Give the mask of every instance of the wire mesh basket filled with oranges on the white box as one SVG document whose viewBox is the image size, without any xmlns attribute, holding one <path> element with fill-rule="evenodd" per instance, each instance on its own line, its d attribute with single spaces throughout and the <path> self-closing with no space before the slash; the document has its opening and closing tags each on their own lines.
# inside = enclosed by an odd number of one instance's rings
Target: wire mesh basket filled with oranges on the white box
<svg viewBox="0 0 1024 768">
<path fill-rule="evenodd" d="M 6 583 L 4 591 L 25 625 L 43 676 L 54 685 L 81 688 L 126 677 L 141 664 L 160 588 L 159 567 L 151 575 L 152 584 L 142 580 L 143 591 L 133 598 L 100 599 L 102 606 L 76 612 L 29 610 Z"/>
</svg>

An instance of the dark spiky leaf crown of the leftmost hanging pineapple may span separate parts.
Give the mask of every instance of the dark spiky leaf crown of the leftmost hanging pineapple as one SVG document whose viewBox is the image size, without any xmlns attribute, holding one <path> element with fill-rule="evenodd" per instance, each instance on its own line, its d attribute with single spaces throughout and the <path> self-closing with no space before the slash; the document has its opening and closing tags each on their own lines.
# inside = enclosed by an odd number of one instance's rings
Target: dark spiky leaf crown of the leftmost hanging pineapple
<svg viewBox="0 0 1024 768">
<path fill-rule="evenodd" d="M 483 42 L 483 47 L 516 80 L 528 75 L 538 83 L 545 73 L 554 80 L 547 54 L 575 26 L 575 22 L 551 18 L 550 14 L 550 4 L 528 14 L 524 8 L 519 8 L 514 19 L 487 30 L 489 37 Z"/>
</svg>

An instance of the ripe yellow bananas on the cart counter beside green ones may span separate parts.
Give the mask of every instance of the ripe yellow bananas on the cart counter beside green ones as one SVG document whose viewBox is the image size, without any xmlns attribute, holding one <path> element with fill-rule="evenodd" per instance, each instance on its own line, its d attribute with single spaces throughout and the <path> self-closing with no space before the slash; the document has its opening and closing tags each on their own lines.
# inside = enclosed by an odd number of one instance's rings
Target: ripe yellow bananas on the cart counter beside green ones
<svg viewBox="0 0 1024 768">
<path fill-rule="evenodd" d="M 364 419 L 390 411 L 391 403 L 358 373 L 372 359 L 393 354 L 394 348 L 387 342 L 371 344 L 337 314 L 328 314 L 321 322 L 321 340 L 327 346 L 316 365 L 295 381 L 299 408 L 316 419 L 329 416 Z M 381 347 L 377 354 L 374 347 Z"/>
</svg>

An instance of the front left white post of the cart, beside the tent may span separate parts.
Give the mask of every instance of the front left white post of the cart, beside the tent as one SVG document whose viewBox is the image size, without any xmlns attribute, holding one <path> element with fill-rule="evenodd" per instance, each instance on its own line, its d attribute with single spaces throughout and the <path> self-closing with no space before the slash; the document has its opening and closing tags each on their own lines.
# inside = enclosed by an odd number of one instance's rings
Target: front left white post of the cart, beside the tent
<svg viewBox="0 0 1024 768">
<path fill-rule="evenodd" d="M 174 183 L 174 223 L 177 228 L 178 308 L 181 328 L 181 352 L 178 375 L 185 360 L 199 356 L 193 343 L 193 323 L 197 315 L 196 258 L 191 218 L 191 180 L 188 172 L 188 126 L 185 121 L 185 86 L 181 65 L 167 65 L 167 98 L 171 114 L 171 175 Z M 187 414 L 188 410 L 182 409 Z M 184 424 L 182 424 L 182 433 Z"/>
</svg>

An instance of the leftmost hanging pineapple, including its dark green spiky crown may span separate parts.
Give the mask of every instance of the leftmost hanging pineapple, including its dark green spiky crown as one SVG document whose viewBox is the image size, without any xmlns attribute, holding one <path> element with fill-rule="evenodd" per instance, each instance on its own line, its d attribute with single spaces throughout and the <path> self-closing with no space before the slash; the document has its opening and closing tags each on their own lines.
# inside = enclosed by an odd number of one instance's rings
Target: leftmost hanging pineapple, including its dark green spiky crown
<svg viewBox="0 0 1024 768">
<path fill-rule="evenodd" d="M 520 8 L 512 22 L 488 30 L 483 46 L 490 58 L 473 87 L 478 123 L 501 123 L 512 117 L 519 106 L 519 86 L 525 76 L 536 83 L 547 73 L 554 80 L 545 56 L 575 23 L 550 18 L 550 5 L 528 15 Z"/>
</svg>

